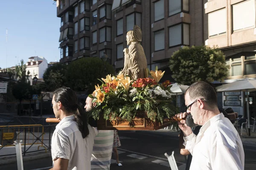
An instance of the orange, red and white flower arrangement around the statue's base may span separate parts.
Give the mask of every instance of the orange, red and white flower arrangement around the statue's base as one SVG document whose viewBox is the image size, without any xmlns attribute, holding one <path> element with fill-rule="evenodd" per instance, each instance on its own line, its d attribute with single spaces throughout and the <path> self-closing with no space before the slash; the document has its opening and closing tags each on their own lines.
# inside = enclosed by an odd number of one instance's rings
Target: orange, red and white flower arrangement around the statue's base
<svg viewBox="0 0 256 170">
<path fill-rule="evenodd" d="M 171 82 L 159 83 L 164 72 L 157 68 L 147 70 L 149 77 L 134 81 L 123 74 L 102 78 L 102 85 L 96 85 L 93 95 L 89 95 L 92 102 L 96 102 L 96 107 L 90 111 L 91 116 L 97 120 L 103 114 L 105 120 L 126 120 L 132 126 L 137 113 L 144 111 L 151 121 L 163 123 L 164 118 L 177 113 L 177 108 L 172 105 Z"/>
</svg>

